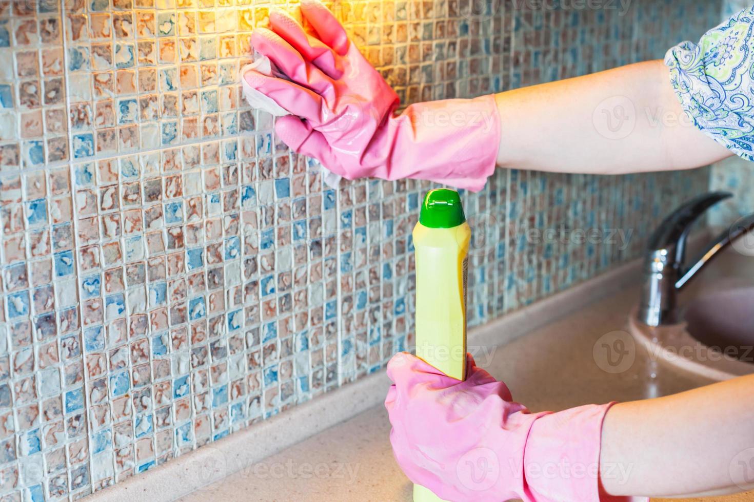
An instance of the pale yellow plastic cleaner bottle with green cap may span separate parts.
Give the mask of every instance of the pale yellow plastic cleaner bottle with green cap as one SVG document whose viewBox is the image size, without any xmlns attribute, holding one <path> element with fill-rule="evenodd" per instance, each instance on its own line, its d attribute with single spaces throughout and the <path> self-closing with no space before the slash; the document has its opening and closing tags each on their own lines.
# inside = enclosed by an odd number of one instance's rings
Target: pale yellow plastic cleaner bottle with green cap
<svg viewBox="0 0 754 502">
<path fill-rule="evenodd" d="M 430 190 L 414 227 L 416 355 L 455 379 L 466 378 L 466 276 L 471 230 L 455 190 Z M 442 500 L 414 485 L 414 502 Z"/>
</svg>

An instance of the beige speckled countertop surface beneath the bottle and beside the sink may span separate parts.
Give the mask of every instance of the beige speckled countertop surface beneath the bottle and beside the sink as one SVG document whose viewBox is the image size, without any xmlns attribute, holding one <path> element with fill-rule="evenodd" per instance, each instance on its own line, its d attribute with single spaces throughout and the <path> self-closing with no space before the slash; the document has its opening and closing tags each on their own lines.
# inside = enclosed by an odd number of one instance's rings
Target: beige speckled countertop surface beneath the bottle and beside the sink
<svg viewBox="0 0 754 502">
<path fill-rule="evenodd" d="M 605 347 L 626 339 L 627 315 L 637 299 L 637 288 L 619 291 L 481 352 L 477 364 L 506 382 L 513 398 L 532 411 L 656 397 L 709 383 L 658 366 L 630 342 L 623 360 L 612 354 L 611 366 Z M 615 370 L 621 371 L 610 373 Z M 179 500 L 409 501 L 412 485 L 393 459 L 389 431 L 387 412 L 377 406 Z M 754 501 L 754 492 L 689 500 Z"/>
</svg>

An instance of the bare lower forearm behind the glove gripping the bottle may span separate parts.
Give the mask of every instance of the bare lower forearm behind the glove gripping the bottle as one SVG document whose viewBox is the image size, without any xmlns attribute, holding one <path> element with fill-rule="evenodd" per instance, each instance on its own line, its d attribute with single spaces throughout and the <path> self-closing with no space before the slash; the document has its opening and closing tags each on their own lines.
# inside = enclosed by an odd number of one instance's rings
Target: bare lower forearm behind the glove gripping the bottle
<svg viewBox="0 0 754 502">
<path fill-rule="evenodd" d="M 600 477 L 613 495 L 701 496 L 754 482 L 754 375 L 619 403 L 602 426 Z"/>
</svg>

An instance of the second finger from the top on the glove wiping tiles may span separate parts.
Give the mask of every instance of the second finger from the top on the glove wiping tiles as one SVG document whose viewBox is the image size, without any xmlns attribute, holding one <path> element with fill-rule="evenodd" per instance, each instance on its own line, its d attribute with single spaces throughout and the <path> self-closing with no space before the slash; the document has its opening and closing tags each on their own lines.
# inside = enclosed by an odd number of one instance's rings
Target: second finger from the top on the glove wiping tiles
<svg viewBox="0 0 754 502">
<path fill-rule="evenodd" d="M 317 38 L 307 35 L 303 26 L 290 14 L 284 11 L 273 11 L 270 14 L 272 30 L 287 41 L 308 62 L 320 68 L 330 78 L 340 78 L 343 75 L 342 63 L 332 49 Z"/>
</svg>

